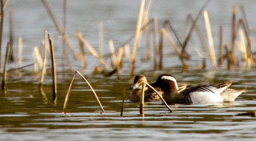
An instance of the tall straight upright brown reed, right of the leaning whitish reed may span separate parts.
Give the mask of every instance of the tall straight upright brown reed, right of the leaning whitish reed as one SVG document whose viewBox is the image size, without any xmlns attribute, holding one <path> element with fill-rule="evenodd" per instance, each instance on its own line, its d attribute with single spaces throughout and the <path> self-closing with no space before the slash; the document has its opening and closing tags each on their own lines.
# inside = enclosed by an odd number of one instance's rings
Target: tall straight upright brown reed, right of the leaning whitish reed
<svg viewBox="0 0 256 141">
<path fill-rule="evenodd" d="M 232 68 L 232 65 L 235 62 L 235 40 L 236 40 L 236 10 L 235 5 L 232 7 L 232 42 L 231 42 L 231 58 L 230 58 L 230 66 L 229 70 Z"/>
</svg>

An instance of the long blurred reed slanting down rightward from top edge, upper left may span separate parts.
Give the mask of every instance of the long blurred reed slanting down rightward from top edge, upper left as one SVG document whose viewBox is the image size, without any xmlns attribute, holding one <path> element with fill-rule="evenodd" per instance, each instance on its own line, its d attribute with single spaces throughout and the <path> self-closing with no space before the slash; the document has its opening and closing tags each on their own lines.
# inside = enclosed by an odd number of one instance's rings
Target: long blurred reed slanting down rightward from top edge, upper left
<svg viewBox="0 0 256 141">
<path fill-rule="evenodd" d="M 64 42 L 66 43 L 66 45 L 70 48 L 73 57 L 78 60 L 78 57 L 74 51 L 74 47 L 70 41 L 70 38 L 65 34 L 65 29 L 62 27 L 62 25 L 60 24 L 60 22 L 58 21 L 58 19 L 56 19 L 54 13 L 52 12 L 52 9 L 49 5 L 49 3 L 46 0 L 41 0 L 45 9 L 47 10 L 48 14 L 51 16 L 56 28 L 58 29 L 59 33 L 61 34 L 61 36 L 63 36 L 64 38 Z"/>
</svg>

